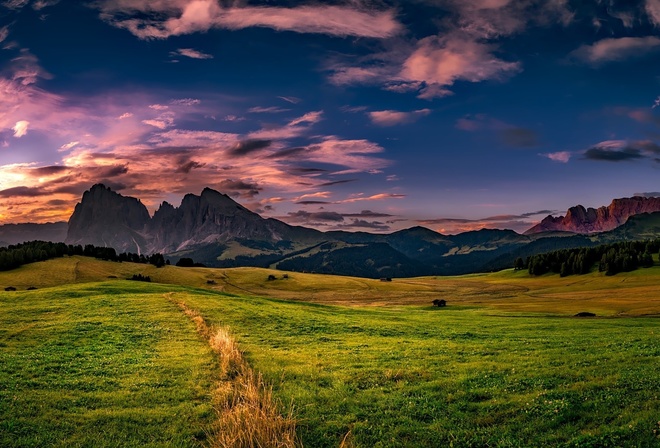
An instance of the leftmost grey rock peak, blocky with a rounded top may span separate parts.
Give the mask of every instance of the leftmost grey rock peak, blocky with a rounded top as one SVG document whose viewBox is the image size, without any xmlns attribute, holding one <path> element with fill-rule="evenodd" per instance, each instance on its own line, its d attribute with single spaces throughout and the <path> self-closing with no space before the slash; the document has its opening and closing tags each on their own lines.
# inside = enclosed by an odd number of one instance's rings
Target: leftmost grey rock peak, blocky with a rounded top
<svg viewBox="0 0 660 448">
<path fill-rule="evenodd" d="M 97 184 L 83 194 L 69 218 L 66 242 L 142 253 L 147 249 L 143 232 L 150 220 L 147 208 L 138 199 Z"/>
</svg>

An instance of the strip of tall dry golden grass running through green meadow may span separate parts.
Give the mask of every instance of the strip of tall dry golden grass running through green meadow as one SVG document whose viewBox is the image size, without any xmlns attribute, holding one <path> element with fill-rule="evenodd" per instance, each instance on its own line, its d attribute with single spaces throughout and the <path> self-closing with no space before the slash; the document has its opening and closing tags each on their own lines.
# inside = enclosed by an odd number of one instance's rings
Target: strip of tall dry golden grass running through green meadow
<svg viewBox="0 0 660 448">
<path fill-rule="evenodd" d="M 171 295 L 169 299 L 172 300 Z M 296 437 L 292 410 L 282 415 L 282 406 L 273 397 L 272 388 L 247 364 L 229 330 L 212 328 L 185 303 L 177 304 L 219 360 L 221 378 L 213 393 L 217 420 L 211 431 L 210 448 L 302 446 Z"/>
</svg>

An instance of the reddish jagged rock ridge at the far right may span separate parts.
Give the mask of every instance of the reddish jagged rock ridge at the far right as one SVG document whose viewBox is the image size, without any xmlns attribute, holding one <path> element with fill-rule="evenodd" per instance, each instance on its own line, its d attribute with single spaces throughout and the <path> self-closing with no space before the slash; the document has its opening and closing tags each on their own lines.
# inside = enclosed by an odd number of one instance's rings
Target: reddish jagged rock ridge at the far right
<svg viewBox="0 0 660 448">
<path fill-rule="evenodd" d="M 581 205 L 571 207 L 565 216 L 548 216 L 525 232 L 525 235 L 541 232 L 563 231 L 574 233 L 607 232 L 616 229 L 629 217 L 660 211 L 660 198 L 614 199 L 607 207 L 585 209 Z"/>
</svg>

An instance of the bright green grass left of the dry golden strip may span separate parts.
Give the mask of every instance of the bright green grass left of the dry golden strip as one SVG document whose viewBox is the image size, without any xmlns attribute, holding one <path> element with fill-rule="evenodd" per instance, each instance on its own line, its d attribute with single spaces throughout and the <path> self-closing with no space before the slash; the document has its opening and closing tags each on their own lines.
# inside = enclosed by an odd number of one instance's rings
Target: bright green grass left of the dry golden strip
<svg viewBox="0 0 660 448">
<path fill-rule="evenodd" d="M 214 358 L 155 289 L 0 294 L 0 446 L 199 446 Z"/>
</svg>

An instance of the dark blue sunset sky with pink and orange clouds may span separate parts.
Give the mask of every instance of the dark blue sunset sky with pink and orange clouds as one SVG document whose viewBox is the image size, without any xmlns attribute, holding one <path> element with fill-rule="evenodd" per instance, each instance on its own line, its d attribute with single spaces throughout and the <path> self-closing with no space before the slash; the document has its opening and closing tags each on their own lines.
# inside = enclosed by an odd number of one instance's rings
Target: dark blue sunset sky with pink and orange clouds
<svg viewBox="0 0 660 448">
<path fill-rule="evenodd" d="M 0 224 L 104 183 L 522 232 L 659 174 L 660 0 L 0 1 Z"/>
</svg>

